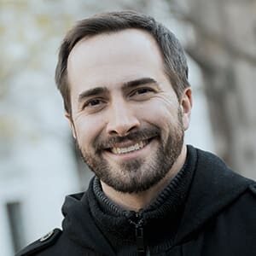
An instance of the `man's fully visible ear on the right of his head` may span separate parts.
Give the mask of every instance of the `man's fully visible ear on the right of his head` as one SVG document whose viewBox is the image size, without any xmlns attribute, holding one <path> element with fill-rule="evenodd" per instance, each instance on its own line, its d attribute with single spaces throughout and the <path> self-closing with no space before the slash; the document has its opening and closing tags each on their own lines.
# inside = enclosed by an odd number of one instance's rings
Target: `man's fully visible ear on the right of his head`
<svg viewBox="0 0 256 256">
<path fill-rule="evenodd" d="M 184 130 L 188 130 L 190 122 L 190 113 L 193 105 L 192 90 L 190 87 L 183 91 L 183 96 L 180 100 L 180 107 L 182 109 L 183 127 Z"/>
</svg>

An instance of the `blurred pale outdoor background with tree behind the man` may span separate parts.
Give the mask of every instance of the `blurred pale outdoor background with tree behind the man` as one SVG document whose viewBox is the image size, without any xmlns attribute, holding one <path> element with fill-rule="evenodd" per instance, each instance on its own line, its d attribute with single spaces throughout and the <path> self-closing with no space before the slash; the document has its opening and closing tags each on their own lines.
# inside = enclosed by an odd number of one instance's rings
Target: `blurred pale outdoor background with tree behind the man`
<svg viewBox="0 0 256 256">
<path fill-rule="evenodd" d="M 65 195 L 87 188 L 55 88 L 57 53 L 76 20 L 120 9 L 153 15 L 186 49 L 186 142 L 256 179 L 255 0 L 0 0 L 1 255 L 61 227 Z"/>
</svg>

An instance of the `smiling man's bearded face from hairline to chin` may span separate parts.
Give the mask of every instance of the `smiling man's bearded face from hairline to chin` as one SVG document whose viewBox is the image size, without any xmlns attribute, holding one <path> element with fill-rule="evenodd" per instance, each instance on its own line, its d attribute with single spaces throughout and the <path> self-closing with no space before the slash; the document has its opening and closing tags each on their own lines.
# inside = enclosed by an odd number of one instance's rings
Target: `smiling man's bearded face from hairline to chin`
<svg viewBox="0 0 256 256">
<path fill-rule="evenodd" d="M 128 193 L 165 177 L 188 124 L 154 39 L 136 29 L 83 39 L 67 73 L 73 135 L 96 176 Z"/>
</svg>

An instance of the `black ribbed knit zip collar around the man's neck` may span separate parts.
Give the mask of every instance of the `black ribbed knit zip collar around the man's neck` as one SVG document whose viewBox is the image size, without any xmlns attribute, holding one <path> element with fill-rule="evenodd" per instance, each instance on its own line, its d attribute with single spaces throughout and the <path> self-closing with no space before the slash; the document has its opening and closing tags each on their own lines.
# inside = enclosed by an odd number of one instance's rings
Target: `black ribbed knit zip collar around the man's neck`
<svg viewBox="0 0 256 256">
<path fill-rule="evenodd" d="M 146 230 L 149 246 L 159 250 L 160 247 L 172 246 L 172 241 L 182 218 L 183 207 L 195 170 L 196 151 L 188 146 L 188 154 L 183 168 L 173 177 L 160 195 L 146 208 L 139 212 Z M 115 205 L 103 193 L 97 177 L 90 182 L 88 189 L 90 211 L 102 233 L 108 237 L 113 247 L 132 244 L 135 241 L 135 212 L 125 211 Z M 163 236 L 165 237 L 163 239 Z M 154 250 L 153 250 L 154 251 Z"/>
</svg>

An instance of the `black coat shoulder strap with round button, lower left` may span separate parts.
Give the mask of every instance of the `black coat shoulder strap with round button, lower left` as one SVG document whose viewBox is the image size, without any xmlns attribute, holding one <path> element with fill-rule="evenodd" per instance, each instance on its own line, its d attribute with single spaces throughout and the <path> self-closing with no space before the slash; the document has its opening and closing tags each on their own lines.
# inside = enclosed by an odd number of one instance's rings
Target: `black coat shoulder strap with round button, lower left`
<svg viewBox="0 0 256 256">
<path fill-rule="evenodd" d="M 60 229 L 51 230 L 37 241 L 32 242 L 30 245 L 20 250 L 15 254 L 15 256 L 37 255 L 36 253 L 39 253 L 45 248 L 54 245 L 58 238 L 61 236 L 61 233 L 62 231 Z"/>
</svg>

